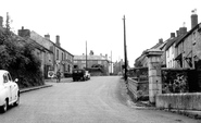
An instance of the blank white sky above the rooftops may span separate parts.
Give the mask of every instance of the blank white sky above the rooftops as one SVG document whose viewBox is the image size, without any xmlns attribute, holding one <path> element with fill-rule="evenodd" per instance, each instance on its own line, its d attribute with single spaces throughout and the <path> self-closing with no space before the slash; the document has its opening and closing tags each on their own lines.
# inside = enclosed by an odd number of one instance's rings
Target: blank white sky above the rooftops
<svg viewBox="0 0 201 123">
<path fill-rule="evenodd" d="M 59 35 L 61 47 L 75 56 L 86 53 L 87 41 L 87 53 L 112 54 L 115 62 L 124 59 L 125 15 L 127 58 L 133 67 L 160 38 L 168 39 L 183 26 L 190 30 L 194 9 L 200 23 L 200 4 L 201 0 L 3 0 L 0 16 L 5 21 L 9 12 L 16 34 L 24 26 L 41 36 L 49 34 L 53 42 Z"/>
</svg>

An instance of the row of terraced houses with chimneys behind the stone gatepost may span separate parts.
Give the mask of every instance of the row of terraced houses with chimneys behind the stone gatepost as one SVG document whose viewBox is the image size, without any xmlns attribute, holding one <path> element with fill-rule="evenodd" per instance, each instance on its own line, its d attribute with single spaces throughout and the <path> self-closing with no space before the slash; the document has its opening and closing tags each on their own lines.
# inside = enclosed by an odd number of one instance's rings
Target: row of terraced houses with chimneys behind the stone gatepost
<svg viewBox="0 0 201 123">
<path fill-rule="evenodd" d="M 192 11 L 191 29 L 179 27 L 175 33 L 171 33 L 171 37 L 159 42 L 150 49 L 163 51 L 162 66 L 174 69 L 201 69 L 201 23 L 198 23 L 198 14 Z M 135 66 L 148 66 L 148 58 L 146 51 L 136 59 Z"/>
</svg>

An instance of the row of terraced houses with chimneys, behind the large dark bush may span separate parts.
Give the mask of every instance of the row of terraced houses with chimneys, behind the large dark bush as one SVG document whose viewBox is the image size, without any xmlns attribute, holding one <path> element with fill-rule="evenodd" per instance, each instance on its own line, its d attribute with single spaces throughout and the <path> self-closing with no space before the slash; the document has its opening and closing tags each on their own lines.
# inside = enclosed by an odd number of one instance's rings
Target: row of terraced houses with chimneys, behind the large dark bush
<svg viewBox="0 0 201 123">
<path fill-rule="evenodd" d="M 1 28 L 3 17 L 0 16 Z M 49 73 L 56 73 L 60 70 L 62 77 L 68 76 L 73 71 L 74 56 L 63 49 L 60 44 L 60 36 L 55 36 L 55 42 L 50 39 L 50 35 L 41 36 L 34 30 L 25 29 L 22 27 L 18 29 L 15 37 L 21 42 L 29 42 L 35 47 L 35 54 L 41 61 L 41 71 L 45 78 L 50 77 Z"/>
</svg>

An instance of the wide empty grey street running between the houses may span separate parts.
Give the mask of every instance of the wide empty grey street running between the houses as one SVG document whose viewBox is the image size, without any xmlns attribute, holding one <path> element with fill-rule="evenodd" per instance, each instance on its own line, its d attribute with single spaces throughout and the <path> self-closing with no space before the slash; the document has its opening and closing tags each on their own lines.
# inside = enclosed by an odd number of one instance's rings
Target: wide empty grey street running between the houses
<svg viewBox="0 0 201 123">
<path fill-rule="evenodd" d="M 24 93 L 18 107 L 0 114 L 0 123 L 201 123 L 176 113 L 130 108 L 120 76 L 86 82 L 50 83 L 52 87 Z"/>
</svg>

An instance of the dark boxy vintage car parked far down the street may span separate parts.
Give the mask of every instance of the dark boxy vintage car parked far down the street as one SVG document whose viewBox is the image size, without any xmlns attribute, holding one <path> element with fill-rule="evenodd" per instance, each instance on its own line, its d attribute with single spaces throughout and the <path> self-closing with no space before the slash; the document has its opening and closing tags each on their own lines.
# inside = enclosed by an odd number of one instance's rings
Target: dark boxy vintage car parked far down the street
<svg viewBox="0 0 201 123">
<path fill-rule="evenodd" d="M 87 75 L 86 75 L 86 71 L 84 69 L 74 69 L 73 70 L 73 81 L 86 81 L 87 79 Z"/>
</svg>

